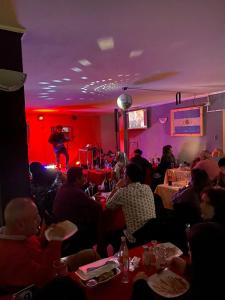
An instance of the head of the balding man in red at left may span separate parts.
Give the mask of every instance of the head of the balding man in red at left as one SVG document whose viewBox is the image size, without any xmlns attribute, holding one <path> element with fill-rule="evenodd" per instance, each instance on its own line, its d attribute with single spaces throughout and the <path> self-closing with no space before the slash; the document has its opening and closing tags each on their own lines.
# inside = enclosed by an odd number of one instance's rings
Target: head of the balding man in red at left
<svg viewBox="0 0 225 300">
<path fill-rule="evenodd" d="M 6 233 L 10 235 L 35 235 L 41 222 L 37 206 L 31 198 L 14 198 L 4 211 Z"/>
</svg>

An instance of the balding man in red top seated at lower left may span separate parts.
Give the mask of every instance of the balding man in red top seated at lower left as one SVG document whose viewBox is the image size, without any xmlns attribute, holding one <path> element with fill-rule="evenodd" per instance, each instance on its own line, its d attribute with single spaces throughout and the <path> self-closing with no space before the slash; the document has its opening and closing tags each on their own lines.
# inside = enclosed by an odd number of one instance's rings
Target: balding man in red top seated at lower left
<svg viewBox="0 0 225 300">
<path fill-rule="evenodd" d="M 53 262 L 60 259 L 62 245 L 54 236 L 63 237 L 63 230 L 53 225 L 50 241 L 38 237 L 41 219 L 31 198 L 12 199 L 5 208 L 4 218 L 5 227 L 0 229 L 1 291 L 14 292 L 31 284 L 39 288 L 54 285 Z M 70 258 L 70 263 L 74 266 L 80 260 L 84 264 L 93 261 L 92 252 L 78 253 Z"/>
</svg>

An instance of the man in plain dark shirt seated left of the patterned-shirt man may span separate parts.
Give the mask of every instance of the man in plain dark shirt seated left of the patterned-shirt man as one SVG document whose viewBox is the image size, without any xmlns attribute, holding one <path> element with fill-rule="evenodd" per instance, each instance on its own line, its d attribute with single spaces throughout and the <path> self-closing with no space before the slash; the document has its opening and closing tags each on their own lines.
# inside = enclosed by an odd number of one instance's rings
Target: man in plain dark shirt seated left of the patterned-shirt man
<svg viewBox="0 0 225 300">
<path fill-rule="evenodd" d="M 57 221 L 69 220 L 78 227 L 76 235 L 64 242 L 63 255 L 91 248 L 98 242 L 102 207 L 83 190 L 82 168 L 71 167 L 66 183 L 59 189 L 53 205 Z"/>
</svg>

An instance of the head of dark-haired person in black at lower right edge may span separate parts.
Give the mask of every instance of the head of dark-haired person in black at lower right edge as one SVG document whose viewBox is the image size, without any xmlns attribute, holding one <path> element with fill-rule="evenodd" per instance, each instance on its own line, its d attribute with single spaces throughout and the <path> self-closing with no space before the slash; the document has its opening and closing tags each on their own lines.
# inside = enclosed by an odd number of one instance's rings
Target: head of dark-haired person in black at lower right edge
<svg viewBox="0 0 225 300">
<path fill-rule="evenodd" d="M 201 195 L 201 214 L 204 220 L 225 224 L 225 189 L 208 188 Z"/>
</svg>

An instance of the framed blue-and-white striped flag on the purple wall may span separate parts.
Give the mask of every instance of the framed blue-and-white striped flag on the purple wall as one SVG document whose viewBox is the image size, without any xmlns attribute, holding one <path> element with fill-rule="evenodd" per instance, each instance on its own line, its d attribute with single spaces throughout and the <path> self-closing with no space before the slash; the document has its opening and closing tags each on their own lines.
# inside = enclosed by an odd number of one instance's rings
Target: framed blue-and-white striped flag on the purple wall
<svg viewBox="0 0 225 300">
<path fill-rule="evenodd" d="M 203 135 L 203 107 L 172 109 L 171 136 L 202 136 Z"/>
</svg>

